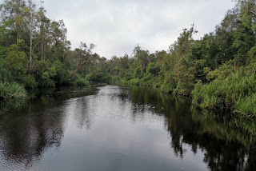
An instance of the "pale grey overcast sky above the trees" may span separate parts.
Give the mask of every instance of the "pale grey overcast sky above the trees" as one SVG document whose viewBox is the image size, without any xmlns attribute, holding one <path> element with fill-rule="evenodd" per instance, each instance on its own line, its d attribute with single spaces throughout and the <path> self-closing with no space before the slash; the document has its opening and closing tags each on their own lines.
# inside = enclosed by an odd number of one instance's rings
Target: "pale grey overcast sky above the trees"
<svg viewBox="0 0 256 171">
<path fill-rule="evenodd" d="M 37 0 L 39 2 L 39 0 Z M 195 24 L 201 38 L 213 31 L 231 0 L 44 0 L 49 18 L 63 19 L 72 48 L 94 43 L 101 56 L 132 54 L 134 46 L 168 50 L 183 28 Z"/>
</svg>

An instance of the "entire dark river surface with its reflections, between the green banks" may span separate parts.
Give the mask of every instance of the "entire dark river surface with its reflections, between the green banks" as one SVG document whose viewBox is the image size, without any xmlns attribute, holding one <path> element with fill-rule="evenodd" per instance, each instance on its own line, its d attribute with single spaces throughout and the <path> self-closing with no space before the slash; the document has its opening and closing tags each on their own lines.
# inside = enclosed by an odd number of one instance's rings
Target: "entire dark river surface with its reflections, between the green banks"
<svg viewBox="0 0 256 171">
<path fill-rule="evenodd" d="M 255 171 L 255 126 L 155 89 L 64 89 L 1 115 L 0 170 Z"/>
</svg>

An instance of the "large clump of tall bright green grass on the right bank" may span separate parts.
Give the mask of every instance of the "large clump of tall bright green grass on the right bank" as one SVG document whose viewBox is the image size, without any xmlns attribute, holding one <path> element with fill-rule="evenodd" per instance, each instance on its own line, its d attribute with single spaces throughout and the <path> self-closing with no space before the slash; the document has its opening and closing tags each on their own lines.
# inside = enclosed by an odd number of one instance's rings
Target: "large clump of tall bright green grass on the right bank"
<svg viewBox="0 0 256 171">
<path fill-rule="evenodd" d="M 223 80 L 195 85 L 193 104 L 202 109 L 231 109 L 256 117 L 256 74 L 243 69 Z"/>
</svg>

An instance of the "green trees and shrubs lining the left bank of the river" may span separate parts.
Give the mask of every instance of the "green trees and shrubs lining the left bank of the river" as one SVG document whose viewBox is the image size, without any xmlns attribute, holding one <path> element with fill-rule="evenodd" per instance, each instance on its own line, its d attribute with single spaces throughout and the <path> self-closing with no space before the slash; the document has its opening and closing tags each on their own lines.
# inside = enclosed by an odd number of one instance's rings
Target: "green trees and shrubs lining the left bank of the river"
<svg viewBox="0 0 256 171">
<path fill-rule="evenodd" d="M 47 18 L 42 4 L 5 0 L 0 5 L 0 100 L 26 97 L 24 88 L 94 80 L 88 74 L 103 68 L 106 58 L 93 54 L 93 44 L 70 50 L 66 33 L 64 22 Z"/>
</svg>

